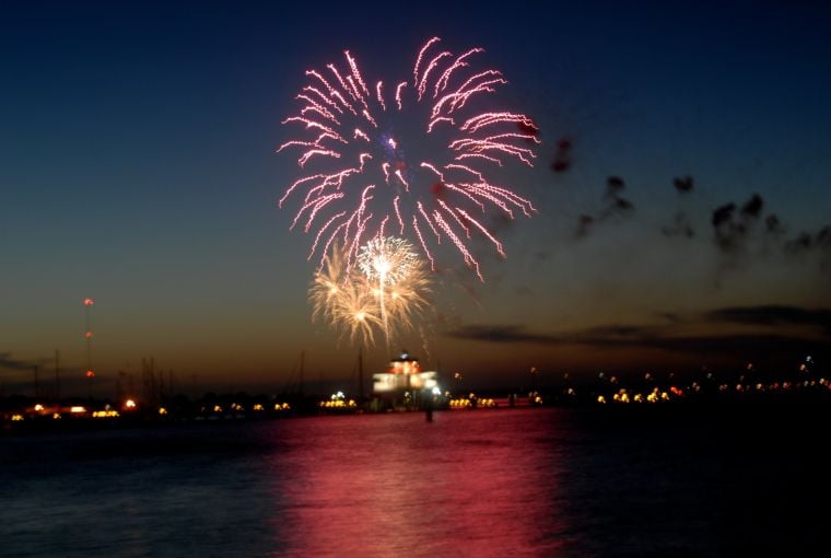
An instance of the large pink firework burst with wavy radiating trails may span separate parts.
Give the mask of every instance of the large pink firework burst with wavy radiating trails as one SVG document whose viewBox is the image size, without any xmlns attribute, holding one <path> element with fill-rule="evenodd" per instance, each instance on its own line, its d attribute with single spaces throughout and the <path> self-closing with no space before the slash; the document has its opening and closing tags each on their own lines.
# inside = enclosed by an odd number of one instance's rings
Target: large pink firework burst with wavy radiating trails
<svg viewBox="0 0 831 558">
<path fill-rule="evenodd" d="M 449 243 L 482 279 L 468 242 L 481 236 L 505 256 L 489 213 L 536 211 L 490 176 L 511 161 L 534 166 L 537 126 L 489 108 L 489 95 L 507 81 L 498 70 L 472 69 L 481 48 L 454 55 L 438 42 L 424 44 L 407 81 L 367 82 L 348 50 L 341 66 L 306 72 L 301 108 L 283 120 L 303 136 L 278 149 L 299 150 L 305 174 L 279 205 L 297 200 L 291 229 L 314 234 L 308 258 L 319 254 L 320 266 L 336 239 L 351 268 L 362 245 L 389 233 L 412 237 L 433 269 L 435 246 Z"/>
</svg>

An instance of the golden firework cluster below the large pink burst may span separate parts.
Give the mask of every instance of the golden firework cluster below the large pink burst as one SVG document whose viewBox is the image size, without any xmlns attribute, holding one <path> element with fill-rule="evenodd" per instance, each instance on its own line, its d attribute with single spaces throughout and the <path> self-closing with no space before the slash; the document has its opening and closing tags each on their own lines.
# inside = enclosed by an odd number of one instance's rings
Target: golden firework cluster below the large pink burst
<svg viewBox="0 0 831 558">
<path fill-rule="evenodd" d="M 390 246 L 396 248 L 391 253 L 387 252 Z M 401 239 L 377 239 L 363 247 L 362 260 L 374 260 L 375 269 L 385 269 L 383 276 L 347 270 L 346 252 L 335 245 L 312 282 L 313 319 L 323 318 L 352 341 L 360 337 L 367 346 L 375 342 L 374 330 L 381 329 L 389 345 L 390 335 L 411 329 L 415 315 L 426 307 L 426 266 Z"/>
</svg>

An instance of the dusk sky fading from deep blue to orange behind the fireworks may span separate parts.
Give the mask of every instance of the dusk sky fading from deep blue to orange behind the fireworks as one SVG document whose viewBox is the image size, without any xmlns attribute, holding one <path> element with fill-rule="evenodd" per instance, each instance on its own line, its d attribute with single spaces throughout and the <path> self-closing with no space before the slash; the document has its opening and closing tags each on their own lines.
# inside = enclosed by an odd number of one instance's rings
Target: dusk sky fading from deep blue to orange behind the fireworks
<svg viewBox="0 0 831 558">
<path fill-rule="evenodd" d="M 406 346 L 469 385 L 599 371 L 831 359 L 831 9 L 506 2 L 0 2 L 0 393 L 141 360 L 185 386 L 354 377 L 358 347 L 307 301 L 313 234 L 278 209 L 276 153 L 305 70 L 349 49 L 406 80 L 426 39 L 480 46 L 534 118 L 530 219 L 448 252 Z M 429 138 L 423 138 L 429 141 Z M 296 204 L 296 202 L 295 202 Z M 69 380 L 67 380 L 69 382 Z"/>
</svg>

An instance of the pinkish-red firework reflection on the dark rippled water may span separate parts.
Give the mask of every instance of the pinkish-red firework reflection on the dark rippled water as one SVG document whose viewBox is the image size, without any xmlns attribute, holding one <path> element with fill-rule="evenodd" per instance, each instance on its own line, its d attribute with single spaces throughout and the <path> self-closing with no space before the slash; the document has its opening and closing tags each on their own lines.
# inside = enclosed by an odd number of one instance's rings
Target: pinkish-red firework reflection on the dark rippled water
<svg viewBox="0 0 831 558">
<path fill-rule="evenodd" d="M 535 414 L 551 420 L 536 410 L 312 419 L 281 464 L 292 478 L 277 480 L 286 554 L 551 556 L 567 525 Z"/>
</svg>

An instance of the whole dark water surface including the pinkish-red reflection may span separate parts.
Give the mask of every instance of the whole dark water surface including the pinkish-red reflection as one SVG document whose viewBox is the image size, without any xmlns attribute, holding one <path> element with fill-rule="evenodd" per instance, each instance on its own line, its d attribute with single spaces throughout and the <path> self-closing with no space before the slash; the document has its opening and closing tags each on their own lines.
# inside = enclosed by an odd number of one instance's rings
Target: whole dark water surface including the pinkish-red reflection
<svg viewBox="0 0 831 558">
<path fill-rule="evenodd" d="M 810 554 L 827 415 L 499 409 L 4 438 L 0 556 Z"/>
</svg>

